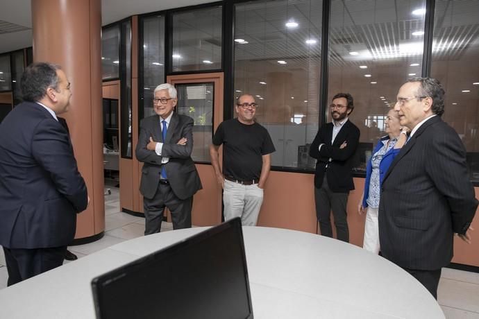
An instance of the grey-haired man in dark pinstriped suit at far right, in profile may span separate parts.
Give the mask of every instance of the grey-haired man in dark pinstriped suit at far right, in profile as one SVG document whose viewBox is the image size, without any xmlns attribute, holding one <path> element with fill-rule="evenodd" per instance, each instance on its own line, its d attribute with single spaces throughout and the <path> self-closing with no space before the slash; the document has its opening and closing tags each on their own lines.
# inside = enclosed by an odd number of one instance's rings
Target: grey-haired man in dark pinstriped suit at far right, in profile
<svg viewBox="0 0 479 319">
<path fill-rule="evenodd" d="M 453 234 L 471 242 L 478 200 L 469 182 L 466 150 L 442 121 L 444 89 L 415 78 L 394 106 L 410 137 L 385 174 L 379 203 L 383 256 L 405 269 L 437 299 L 441 268 L 453 257 Z"/>
</svg>

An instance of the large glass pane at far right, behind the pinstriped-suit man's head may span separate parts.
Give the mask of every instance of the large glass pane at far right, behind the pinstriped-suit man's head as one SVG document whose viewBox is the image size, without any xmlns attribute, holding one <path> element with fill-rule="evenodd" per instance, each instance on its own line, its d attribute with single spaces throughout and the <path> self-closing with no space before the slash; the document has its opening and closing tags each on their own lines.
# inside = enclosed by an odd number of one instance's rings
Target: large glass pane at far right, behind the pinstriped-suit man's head
<svg viewBox="0 0 479 319">
<path fill-rule="evenodd" d="M 474 182 L 479 182 L 478 12 L 476 0 L 436 1 L 431 65 L 431 76 L 446 90 L 442 118 L 462 139 Z"/>
</svg>

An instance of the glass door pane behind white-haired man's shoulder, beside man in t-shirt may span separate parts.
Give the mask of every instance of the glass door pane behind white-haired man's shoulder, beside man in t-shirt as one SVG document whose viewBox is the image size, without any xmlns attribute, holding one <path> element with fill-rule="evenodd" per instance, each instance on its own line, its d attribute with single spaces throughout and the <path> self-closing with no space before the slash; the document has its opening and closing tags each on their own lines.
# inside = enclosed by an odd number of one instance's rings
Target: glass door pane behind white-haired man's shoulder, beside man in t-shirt
<svg viewBox="0 0 479 319">
<path fill-rule="evenodd" d="M 214 89 L 213 83 L 176 85 L 176 112 L 194 120 L 192 159 L 195 162 L 211 162 L 209 146 L 213 132 Z"/>
</svg>

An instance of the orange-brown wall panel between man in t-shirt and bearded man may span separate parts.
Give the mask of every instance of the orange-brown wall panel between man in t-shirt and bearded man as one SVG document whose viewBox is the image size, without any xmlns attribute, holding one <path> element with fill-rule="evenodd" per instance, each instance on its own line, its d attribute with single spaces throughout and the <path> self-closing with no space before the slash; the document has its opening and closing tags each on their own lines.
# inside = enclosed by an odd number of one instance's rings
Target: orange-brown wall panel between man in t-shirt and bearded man
<svg viewBox="0 0 479 319">
<path fill-rule="evenodd" d="M 269 173 L 258 226 L 316 233 L 313 178 L 312 174 Z"/>
</svg>

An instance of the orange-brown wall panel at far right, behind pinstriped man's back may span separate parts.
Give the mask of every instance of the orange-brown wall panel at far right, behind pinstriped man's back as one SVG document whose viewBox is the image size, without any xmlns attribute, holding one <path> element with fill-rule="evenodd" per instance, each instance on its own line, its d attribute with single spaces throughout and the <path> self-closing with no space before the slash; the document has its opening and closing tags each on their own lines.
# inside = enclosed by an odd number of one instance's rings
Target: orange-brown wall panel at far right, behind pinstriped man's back
<svg viewBox="0 0 479 319">
<path fill-rule="evenodd" d="M 474 187 L 476 198 L 479 198 L 479 187 Z M 475 231 L 471 232 L 472 243 L 469 245 L 459 237 L 454 237 L 453 263 L 466 264 L 479 267 L 479 208 L 476 210 L 471 226 Z"/>
</svg>

